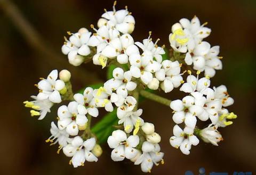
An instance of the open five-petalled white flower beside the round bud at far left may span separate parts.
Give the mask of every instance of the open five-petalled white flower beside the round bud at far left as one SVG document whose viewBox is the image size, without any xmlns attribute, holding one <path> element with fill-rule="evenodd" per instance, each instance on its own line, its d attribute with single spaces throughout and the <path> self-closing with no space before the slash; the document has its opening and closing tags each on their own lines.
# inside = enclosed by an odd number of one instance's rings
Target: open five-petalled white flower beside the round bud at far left
<svg viewBox="0 0 256 175">
<path fill-rule="evenodd" d="M 38 82 L 36 85 L 39 89 L 39 94 L 37 95 L 37 100 L 49 99 L 53 103 L 60 103 L 61 96 L 60 90 L 65 88 L 65 82 L 62 80 L 57 80 L 58 71 L 53 70 L 47 77 Z"/>
</svg>

